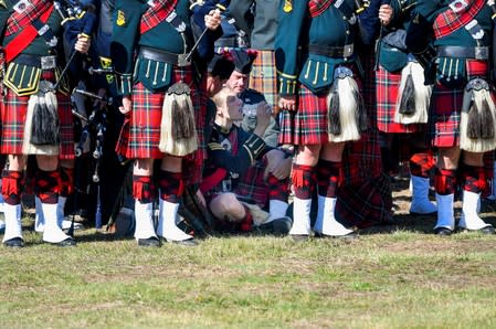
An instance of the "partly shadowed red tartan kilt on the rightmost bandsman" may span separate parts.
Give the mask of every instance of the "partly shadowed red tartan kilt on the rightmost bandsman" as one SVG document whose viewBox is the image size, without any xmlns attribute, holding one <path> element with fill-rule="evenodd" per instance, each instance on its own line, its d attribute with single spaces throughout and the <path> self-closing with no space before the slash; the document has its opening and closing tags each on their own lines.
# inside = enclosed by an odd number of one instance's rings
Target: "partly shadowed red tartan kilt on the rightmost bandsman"
<svg viewBox="0 0 496 329">
<path fill-rule="evenodd" d="M 468 79 L 476 76 L 487 78 L 488 62 L 467 60 L 466 63 Z M 456 147 L 460 145 L 463 93 L 464 87 L 450 88 L 439 82 L 435 83 L 429 113 L 429 137 L 432 146 Z"/>
</svg>

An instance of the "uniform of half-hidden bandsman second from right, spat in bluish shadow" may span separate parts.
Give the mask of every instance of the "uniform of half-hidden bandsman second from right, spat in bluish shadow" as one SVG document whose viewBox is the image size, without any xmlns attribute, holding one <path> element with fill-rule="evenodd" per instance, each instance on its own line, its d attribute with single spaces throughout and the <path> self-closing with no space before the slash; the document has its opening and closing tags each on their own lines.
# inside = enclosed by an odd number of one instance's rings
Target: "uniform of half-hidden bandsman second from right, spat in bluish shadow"
<svg viewBox="0 0 496 329">
<path fill-rule="evenodd" d="M 424 86 L 422 66 L 408 52 L 404 43 L 414 4 L 415 2 L 410 0 L 392 1 L 392 22 L 381 28 L 383 31 L 379 40 L 379 65 L 376 72 L 377 127 L 383 132 L 381 137 L 387 145 L 382 148 L 386 156 L 382 159 L 387 163 L 391 163 L 391 158 L 410 163 L 410 212 L 429 214 L 436 211 L 429 200 L 430 172 L 434 168 L 434 159 L 430 149 L 424 146 L 431 86 Z M 413 92 L 405 92 L 408 83 L 411 83 L 413 89 L 410 91 Z M 392 148 L 393 144 L 399 147 Z M 391 157 L 392 152 L 397 155 Z M 390 166 L 394 168 L 397 164 Z"/>
</svg>

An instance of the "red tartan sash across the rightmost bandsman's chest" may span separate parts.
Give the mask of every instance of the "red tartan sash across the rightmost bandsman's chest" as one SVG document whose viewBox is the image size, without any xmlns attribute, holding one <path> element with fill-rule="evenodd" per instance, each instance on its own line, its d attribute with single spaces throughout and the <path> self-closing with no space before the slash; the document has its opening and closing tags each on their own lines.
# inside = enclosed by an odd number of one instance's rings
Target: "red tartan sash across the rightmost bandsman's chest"
<svg viewBox="0 0 496 329">
<path fill-rule="evenodd" d="M 452 8 L 448 8 L 444 12 L 440 13 L 434 20 L 435 39 L 450 35 L 456 30 L 468 24 L 468 22 L 477 15 L 484 4 L 484 0 L 473 0 L 472 3 L 467 4 L 467 7 L 458 12 L 454 12 Z"/>
</svg>

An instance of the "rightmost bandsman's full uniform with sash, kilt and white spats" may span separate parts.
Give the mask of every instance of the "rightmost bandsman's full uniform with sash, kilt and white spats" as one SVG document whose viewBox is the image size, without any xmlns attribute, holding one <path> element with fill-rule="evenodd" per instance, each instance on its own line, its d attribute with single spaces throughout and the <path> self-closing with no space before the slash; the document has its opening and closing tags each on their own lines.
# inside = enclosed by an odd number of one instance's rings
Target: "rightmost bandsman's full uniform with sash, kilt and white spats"
<svg viewBox="0 0 496 329">
<path fill-rule="evenodd" d="M 481 153 L 494 150 L 496 109 L 492 88 L 487 84 L 488 51 L 494 29 L 490 8 L 481 0 L 455 0 L 418 1 L 415 10 L 414 24 L 411 24 L 408 33 L 433 35 L 437 54 L 437 60 L 433 63 L 435 83 L 430 113 L 432 145 L 439 147 L 440 151 L 460 148 Z M 421 40 L 409 39 L 409 49 L 414 53 L 421 52 Z M 461 159 L 463 161 L 464 157 Z M 437 166 L 437 223 L 434 232 L 448 235 L 454 230 L 453 199 L 456 180 L 463 184 L 463 209 L 458 226 L 494 233 L 494 227 L 477 215 L 481 191 L 485 189 L 486 181 L 482 163 L 460 164 L 457 172 Z"/>
</svg>

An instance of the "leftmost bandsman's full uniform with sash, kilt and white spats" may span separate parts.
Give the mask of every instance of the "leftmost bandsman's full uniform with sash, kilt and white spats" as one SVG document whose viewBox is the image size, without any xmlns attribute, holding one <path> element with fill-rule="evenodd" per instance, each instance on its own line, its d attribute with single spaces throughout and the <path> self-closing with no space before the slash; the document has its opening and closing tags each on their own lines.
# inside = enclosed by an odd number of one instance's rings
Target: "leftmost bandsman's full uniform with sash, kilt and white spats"
<svg viewBox="0 0 496 329">
<path fill-rule="evenodd" d="M 73 42 L 80 32 L 91 34 L 92 26 L 89 24 L 88 30 L 83 30 L 86 25 L 80 24 L 82 17 L 73 17 L 71 22 L 63 21 L 64 9 L 55 9 L 53 1 L 21 0 L 8 3 L 7 8 L 10 15 L 2 35 L 7 70 L 0 151 L 71 160 L 74 158 L 74 137 L 70 86 L 67 76 L 62 76 L 65 64 L 62 23 L 75 29 L 65 33 L 65 39 L 72 38 Z M 71 46 L 73 43 L 68 50 L 75 52 Z M 22 172 L 14 170 L 4 170 L 2 177 L 2 194 L 7 202 L 3 241 L 8 246 L 22 246 L 21 178 Z M 75 241 L 61 230 L 63 217 L 57 213 L 61 181 L 59 169 L 38 170 L 35 173 L 35 194 L 41 200 L 44 217 L 43 241 L 74 245 Z"/>
</svg>

